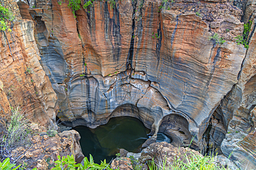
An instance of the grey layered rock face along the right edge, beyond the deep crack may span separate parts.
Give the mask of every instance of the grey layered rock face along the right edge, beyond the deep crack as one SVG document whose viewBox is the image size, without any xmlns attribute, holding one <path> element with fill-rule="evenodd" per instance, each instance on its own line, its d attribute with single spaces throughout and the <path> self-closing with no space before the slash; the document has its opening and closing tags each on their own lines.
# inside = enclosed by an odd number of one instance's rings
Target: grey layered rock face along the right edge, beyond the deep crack
<svg viewBox="0 0 256 170">
<path fill-rule="evenodd" d="M 249 6 L 250 7 L 250 6 Z M 246 53 L 239 82 L 223 100 L 220 111 L 230 121 L 221 150 L 241 169 L 255 169 L 255 12 L 252 17 L 250 47 Z M 235 95 L 236 94 L 236 95 Z M 222 101 L 221 101 L 222 103 Z"/>
</svg>

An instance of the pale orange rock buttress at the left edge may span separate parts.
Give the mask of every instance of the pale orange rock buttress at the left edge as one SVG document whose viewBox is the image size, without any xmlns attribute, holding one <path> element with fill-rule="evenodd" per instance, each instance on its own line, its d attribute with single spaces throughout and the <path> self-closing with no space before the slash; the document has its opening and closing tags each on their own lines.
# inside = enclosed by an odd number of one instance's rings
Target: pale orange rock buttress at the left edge
<svg viewBox="0 0 256 170">
<path fill-rule="evenodd" d="M 17 21 L 0 38 L 0 113 L 5 120 L 12 109 L 41 125 L 53 125 L 57 96 L 39 63 L 33 21 Z"/>
</svg>

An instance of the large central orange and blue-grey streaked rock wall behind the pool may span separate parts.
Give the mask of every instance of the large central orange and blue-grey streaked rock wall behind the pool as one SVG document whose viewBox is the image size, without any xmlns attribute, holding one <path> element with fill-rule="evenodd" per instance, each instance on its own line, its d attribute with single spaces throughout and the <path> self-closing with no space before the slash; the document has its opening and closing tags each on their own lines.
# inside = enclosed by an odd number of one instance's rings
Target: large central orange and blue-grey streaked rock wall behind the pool
<svg viewBox="0 0 256 170">
<path fill-rule="evenodd" d="M 235 93 L 246 56 L 234 40 L 244 29 L 239 8 L 226 1 L 127 0 L 114 8 L 94 1 L 75 18 L 66 2 L 19 7 L 34 21 L 40 63 L 66 125 L 93 128 L 134 116 L 152 129 L 145 146 L 163 131 L 174 145 L 195 136 L 192 146 L 203 151 L 225 138 L 232 114 L 219 110 Z M 210 40 L 214 32 L 226 43 Z"/>
</svg>

